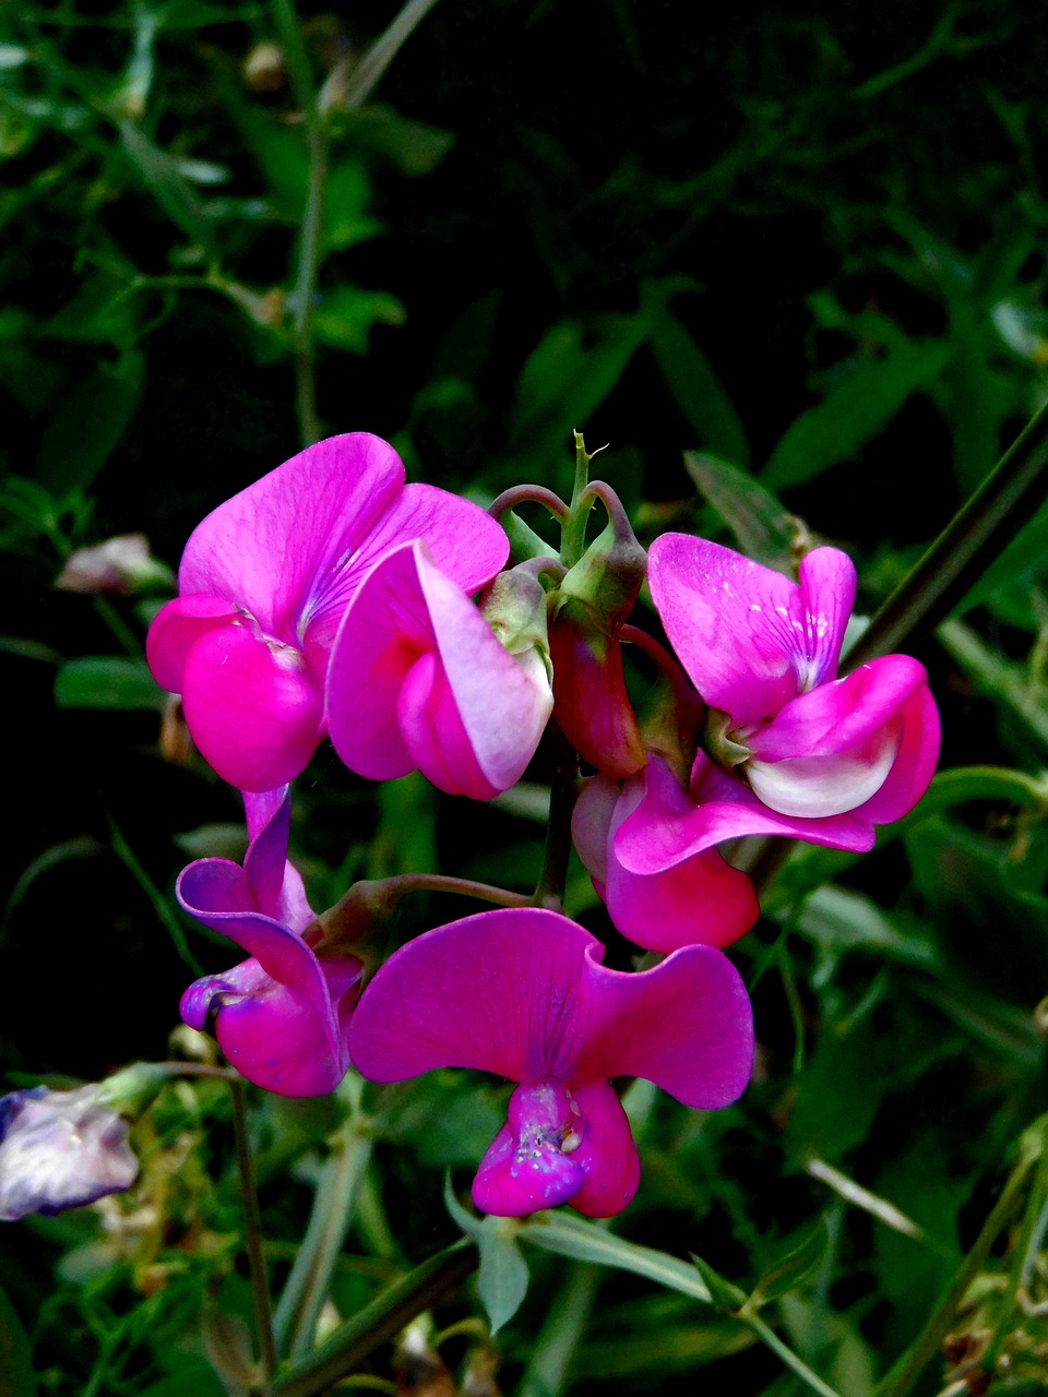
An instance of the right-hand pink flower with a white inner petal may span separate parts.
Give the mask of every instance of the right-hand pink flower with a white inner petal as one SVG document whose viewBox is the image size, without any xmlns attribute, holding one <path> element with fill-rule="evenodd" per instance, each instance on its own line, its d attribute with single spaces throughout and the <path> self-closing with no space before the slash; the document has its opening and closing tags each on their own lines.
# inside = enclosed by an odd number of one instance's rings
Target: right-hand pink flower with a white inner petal
<svg viewBox="0 0 1048 1397">
<path fill-rule="evenodd" d="M 694 838 L 676 840 L 675 856 L 741 834 L 868 849 L 875 824 L 917 805 L 939 754 L 939 717 L 924 666 L 908 655 L 837 679 L 855 597 L 847 555 L 815 549 L 795 584 L 718 543 L 664 534 L 648 578 L 667 636 L 710 708 L 692 771 L 700 809 L 668 821 Z M 630 866 L 640 870 L 643 820 L 630 823 Z"/>
</svg>

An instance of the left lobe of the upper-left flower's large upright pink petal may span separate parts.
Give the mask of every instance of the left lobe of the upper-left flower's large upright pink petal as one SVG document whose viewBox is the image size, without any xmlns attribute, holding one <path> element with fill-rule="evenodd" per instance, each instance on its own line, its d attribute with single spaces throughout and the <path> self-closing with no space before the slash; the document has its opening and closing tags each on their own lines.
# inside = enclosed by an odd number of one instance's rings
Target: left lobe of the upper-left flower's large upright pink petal
<svg viewBox="0 0 1048 1397">
<path fill-rule="evenodd" d="M 319 441 L 208 514 L 186 545 L 179 591 L 224 597 L 267 634 L 302 644 L 309 610 L 402 486 L 404 465 L 380 437 Z"/>
</svg>

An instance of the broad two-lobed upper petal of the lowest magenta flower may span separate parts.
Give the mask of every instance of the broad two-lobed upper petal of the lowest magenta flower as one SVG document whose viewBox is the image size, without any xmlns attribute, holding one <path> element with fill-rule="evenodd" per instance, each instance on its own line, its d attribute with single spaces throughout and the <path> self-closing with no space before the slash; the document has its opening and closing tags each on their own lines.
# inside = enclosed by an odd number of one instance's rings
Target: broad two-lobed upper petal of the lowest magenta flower
<svg viewBox="0 0 1048 1397">
<path fill-rule="evenodd" d="M 749 1077 L 753 1027 L 731 963 L 689 946 L 627 975 L 601 965 L 602 956 L 581 926 L 538 908 L 426 932 L 367 986 L 351 1025 L 354 1062 L 374 1081 L 435 1067 L 576 1085 L 629 1074 L 686 1105 L 734 1101 Z"/>
</svg>

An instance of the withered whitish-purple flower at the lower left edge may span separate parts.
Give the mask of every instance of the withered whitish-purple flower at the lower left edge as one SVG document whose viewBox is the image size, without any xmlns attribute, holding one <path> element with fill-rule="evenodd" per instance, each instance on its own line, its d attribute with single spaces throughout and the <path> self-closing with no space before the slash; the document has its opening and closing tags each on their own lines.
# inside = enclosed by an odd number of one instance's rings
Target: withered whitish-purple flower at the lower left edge
<svg viewBox="0 0 1048 1397">
<path fill-rule="evenodd" d="M 0 1098 L 0 1220 L 50 1217 L 130 1189 L 138 1161 L 105 1083 Z"/>
</svg>

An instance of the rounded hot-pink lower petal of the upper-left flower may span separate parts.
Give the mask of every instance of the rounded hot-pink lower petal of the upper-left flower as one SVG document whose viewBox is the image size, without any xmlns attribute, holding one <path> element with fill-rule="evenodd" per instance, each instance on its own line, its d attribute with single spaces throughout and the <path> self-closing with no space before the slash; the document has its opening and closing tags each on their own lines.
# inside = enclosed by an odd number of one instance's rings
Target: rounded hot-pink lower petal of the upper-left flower
<svg viewBox="0 0 1048 1397">
<path fill-rule="evenodd" d="M 242 791 L 291 781 L 323 732 L 321 696 L 302 654 L 245 626 L 225 626 L 193 645 L 182 703 L 201 754 Z"/>
</svg>

